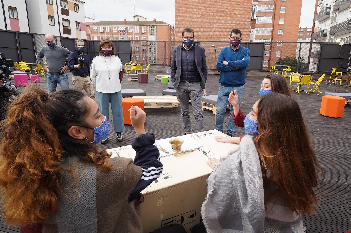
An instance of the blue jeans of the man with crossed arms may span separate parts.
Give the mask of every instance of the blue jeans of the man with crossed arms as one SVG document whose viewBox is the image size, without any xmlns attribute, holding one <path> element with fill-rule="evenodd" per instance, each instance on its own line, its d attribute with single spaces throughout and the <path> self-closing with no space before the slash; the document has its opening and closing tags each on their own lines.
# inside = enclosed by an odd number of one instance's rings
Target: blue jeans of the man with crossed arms
<svg viewBox="0 0 351 233">
<path fill-rule="evenodd" d="M 244 85 L 239 87 L 225 87 L 219 86 L 218 98 L 217 98 L 217 111 L 216 111 L 216 129 L 220 132 L 223 132 L 223 119 L 224 114 L 228 105 L 228 98 L 231 91 L 236 90 L 239 98 L 239 106 L 241 98 L 244 94 Z M 230 116 L 228 119 L 227 133 L 233 134 L 235 130 L 235 124 L 232 118 L 232 113 L 234 111 L 233 105 L 230 105 Z"/>
</svg>

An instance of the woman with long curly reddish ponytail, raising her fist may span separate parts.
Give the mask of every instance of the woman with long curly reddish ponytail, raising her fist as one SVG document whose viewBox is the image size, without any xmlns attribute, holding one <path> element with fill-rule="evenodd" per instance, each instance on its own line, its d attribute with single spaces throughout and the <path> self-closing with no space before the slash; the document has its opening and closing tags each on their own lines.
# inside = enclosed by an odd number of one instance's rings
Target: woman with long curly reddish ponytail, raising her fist
<svg viewBox="0 0 351 233">
<path fill-rule="evenodd" d="M 146 134 L 146 114 L 130 109 L 134 162 L 96 143 L 110 126 L 96 102 L 74 89 L 27 87 L 1 122 L 2 213 L 21 232 L 142 232 L 139 193 L 163 166 Z M 34 229 L 34 230 L 33 230 Z"/>
</svg>

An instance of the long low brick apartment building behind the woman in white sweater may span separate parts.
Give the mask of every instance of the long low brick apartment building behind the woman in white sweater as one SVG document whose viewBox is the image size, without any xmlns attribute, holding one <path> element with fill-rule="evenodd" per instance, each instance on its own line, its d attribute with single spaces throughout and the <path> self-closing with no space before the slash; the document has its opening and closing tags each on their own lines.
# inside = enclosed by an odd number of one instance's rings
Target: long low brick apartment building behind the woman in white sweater
<svg viewBox="0 0 351 233">
<path fill-rule="evenodd" d="M 147 21 L 140 15 L 133 15 L 134 21 L 99 21 L 86 22 L 87 35 L 90 40 L 130 40 L 132 61 L 138 64 L 162 64 L 164 55 L 171 59 L 174 45 L 174 26 L 164 21 Z"/>
</svg>

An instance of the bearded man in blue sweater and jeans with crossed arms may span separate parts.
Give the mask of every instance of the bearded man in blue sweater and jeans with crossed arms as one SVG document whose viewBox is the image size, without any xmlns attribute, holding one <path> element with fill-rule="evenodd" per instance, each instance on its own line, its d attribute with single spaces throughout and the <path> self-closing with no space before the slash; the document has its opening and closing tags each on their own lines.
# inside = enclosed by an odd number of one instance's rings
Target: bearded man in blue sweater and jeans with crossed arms
<svg viewBox="0 0 351 233">
<path fill-rule="evenodd" d="M 229 94 L 236 91 L 239 98 L 239 106 L 241 97 L 244 93 L 244 84 L 246 82 L 246 67 L 250 61 L 250 50 L 240 46 L 241 31 L 233 29 L 230 33 L 230 46 L 222 48 L 218 60 L 217 69 L 220 70 L 219 90 L 217 99 L 216 112 L 216 129 L 223 132 L 223 119 L 227 108 Z M 230 106 L 230 115 L 226 134 L 232 137 L 235 130 L 234 121 L 232 119 L 233 106 Z"/>
</svg>

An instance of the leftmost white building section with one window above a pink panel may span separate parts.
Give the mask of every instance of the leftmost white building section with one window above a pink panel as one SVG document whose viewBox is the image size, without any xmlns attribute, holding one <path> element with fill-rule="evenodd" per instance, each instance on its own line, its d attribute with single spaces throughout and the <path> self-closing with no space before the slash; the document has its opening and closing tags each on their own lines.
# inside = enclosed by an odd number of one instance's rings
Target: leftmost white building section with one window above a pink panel
<svg viewBox="0 0 351 233">
<path fill-rule="evenodd" d="M 0 29 L 29 32 L 27 7 L 24 0 L 2 0 L 0 4 Z"/>
</svg>

